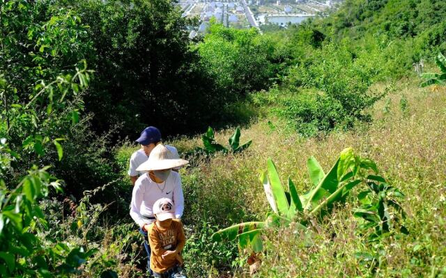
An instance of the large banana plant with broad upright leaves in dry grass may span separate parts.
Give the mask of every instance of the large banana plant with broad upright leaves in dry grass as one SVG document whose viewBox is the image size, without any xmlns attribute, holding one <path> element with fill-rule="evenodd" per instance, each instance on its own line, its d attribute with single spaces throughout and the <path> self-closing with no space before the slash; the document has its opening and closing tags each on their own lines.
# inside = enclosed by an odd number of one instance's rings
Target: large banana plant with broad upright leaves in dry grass
<svg viewBox="0 0 446 278">
<path fill-rule="evenodd" d="M 238 239 L 241 248 L 251 245 L 254 252 L 259 252 L 262 247 L 261 232 L 264 229 L 297 220 L 299 227 L 306 230 L 305 224 L 309 218 L 321 217 L 330 211 L 335 202 L 345 202 L 351 189 L 366 179 L 365 172 L 369 170 L 378 172 L 373 161 L 355 155 L 351 148 L 341 152 L 328 174 L 325 174 L 313 156 L 308 159 L 307 167 L 314 188 L 299 195 L 290 178 L 289 192 L 284 190 L 277 167 L 271 158 L 268 158 L 267 170 L 261 174 L 261 182 L 273 213 L 268 213 L 267 219 L 263 222 L 245 222 L 217 231 L 211 239 L 215 241 Z"/>
</svg>

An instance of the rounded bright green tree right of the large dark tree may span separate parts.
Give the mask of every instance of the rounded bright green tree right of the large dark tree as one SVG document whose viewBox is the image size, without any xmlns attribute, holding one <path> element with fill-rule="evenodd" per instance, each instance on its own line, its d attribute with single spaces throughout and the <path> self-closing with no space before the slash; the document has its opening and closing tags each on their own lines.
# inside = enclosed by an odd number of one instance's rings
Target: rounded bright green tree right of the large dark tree
<svg viewBox="0 0 446 278">
<path fill-rule="evenodd" d="M 274 45 L 255 28 L 236 30 L 211 24 L 197 48 L 203 67 L 233 97 L 268 88 L 274 76 Z"/>
</svg>

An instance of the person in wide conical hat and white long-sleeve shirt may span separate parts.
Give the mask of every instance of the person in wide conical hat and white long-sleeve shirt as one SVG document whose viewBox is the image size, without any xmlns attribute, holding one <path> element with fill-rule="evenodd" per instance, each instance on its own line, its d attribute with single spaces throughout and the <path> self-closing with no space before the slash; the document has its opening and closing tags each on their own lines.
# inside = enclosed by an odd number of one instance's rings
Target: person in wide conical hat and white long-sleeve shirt
<svg viewBox="0 0 446 278">
<path fill-rule="evenodd" d="M 177 158 L 167 147 L 156 145 L 148 159 L 137 167 L 137 171 L 144 172 L 134 183 L 130 216 L 139 226 L 139 232 L 144 236 L 150 269 L 151 247 L 148 245 L 148 227 L 155 221 L 153 204 L 157 199 L 169 198 L 175 204 L 175 217 L 180 219 L 184 210 L 183 188 L 178 172 L 172 169 L 186 165 L 189 161 Z"/>
</svg>

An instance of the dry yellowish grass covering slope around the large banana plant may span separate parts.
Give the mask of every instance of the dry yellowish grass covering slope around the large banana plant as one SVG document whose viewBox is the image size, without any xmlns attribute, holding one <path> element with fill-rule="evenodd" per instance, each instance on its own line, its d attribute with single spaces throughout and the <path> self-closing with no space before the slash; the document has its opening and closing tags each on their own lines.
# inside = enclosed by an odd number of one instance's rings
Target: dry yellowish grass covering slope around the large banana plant
<svg viewBox="0 0 446 278">
<path fill-rule="evenodd" d="M 445 104 L 445 92 L 421 89 L 408 81 L 398 83 L 397 90 L 376 105 L 374 122 L 353 131 L 302 139 L 279 129 L 272 130 L 268 120 L 261 120 L 242 130 L 241 142 L 253 140 L 242 154 L 217 155 L 201 161 L 195 169 L 185 170 L 185 200 L 189 203 L 185 218 L 192 213 L 192 218 L 205 216 L 222 226 L 263 219 L 270 208 L 258 177 L 266 169 L 268 157 L 275 161 L 282 180 L 290 175 L 303 192 L 309 187 L 306 169 L 309 156 L 316 156 L 328 170 L 342 149 L 353 147 L 361 156 L 376 161 L 380 174 L 406 194 L 402 205 L 408 213 L 405 224 L 410 235 L 392 236 L 380 243 L 383 263 L 376 275 L 446 275 Z M 231 133 L 233 130 L 217 133 L 217 142 L 226 144 Z M 182 144 L 192 147 L 200 142 L 196 138 Z M 360 268 L 354 256 L 355 252 L 370 248 L 364 238 L 355 234 L 357 220 L 351 213 L 354 205 L 338 208 L 323 223 L 314 222 L 313 229 L 317 232 L 311 237 L 311 245 L 292 227 L 270 231 L 257 276 L 370 275 Z M 240 270 L 235 276 L 246 273 L 247 269 Z"/>
</svg>

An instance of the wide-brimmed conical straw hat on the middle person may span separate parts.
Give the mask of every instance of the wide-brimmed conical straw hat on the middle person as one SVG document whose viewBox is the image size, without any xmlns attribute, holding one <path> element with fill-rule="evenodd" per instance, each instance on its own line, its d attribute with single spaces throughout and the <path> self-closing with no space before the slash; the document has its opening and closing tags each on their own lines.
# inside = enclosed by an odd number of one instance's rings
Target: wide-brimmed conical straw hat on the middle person
<svg viewBox="0 0 446 278">
<path fill-rule="evenodd" d="M 168 170 L 188 163 L 189 161 L 178 158 L 164 145 L 158 144 L 152 149 L 148 160 L 137 167 L 137 171 Z"/>
</svg>

